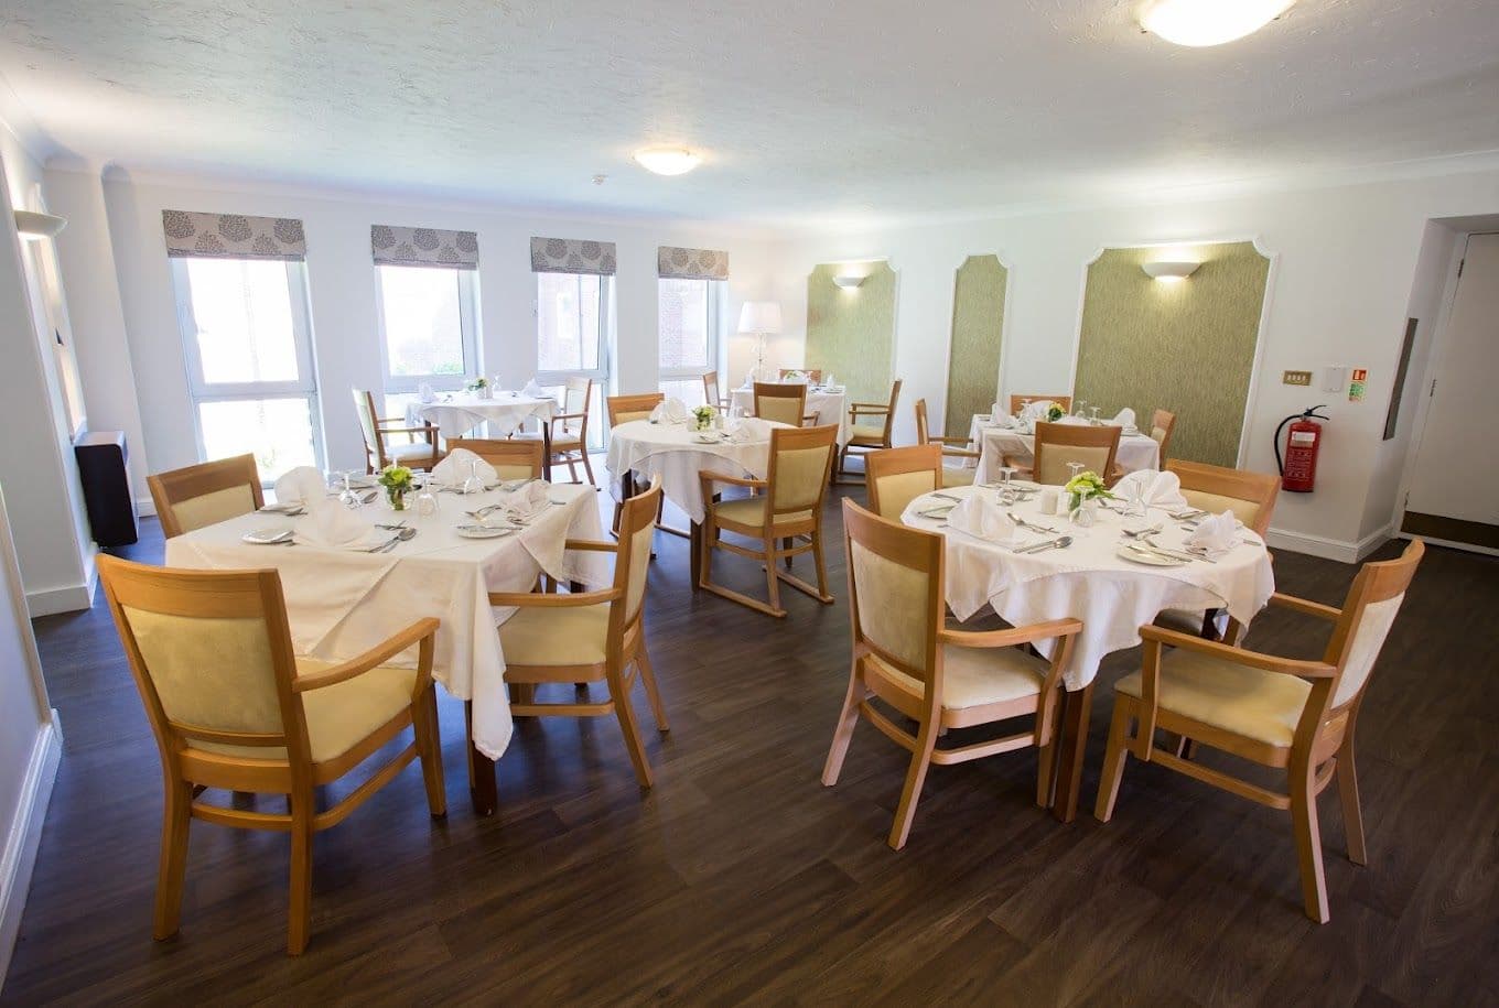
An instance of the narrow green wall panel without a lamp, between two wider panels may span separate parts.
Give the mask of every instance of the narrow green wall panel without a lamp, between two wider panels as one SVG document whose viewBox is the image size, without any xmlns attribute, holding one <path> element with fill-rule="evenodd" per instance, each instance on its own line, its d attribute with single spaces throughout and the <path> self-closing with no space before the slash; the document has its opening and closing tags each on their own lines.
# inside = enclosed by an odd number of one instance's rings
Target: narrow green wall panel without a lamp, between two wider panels
<svg viewBox="0 0 1499 1008">
<path fill-rule="evenodd" d="M 947 434 L 968 434 L 974 413 L 988 413 L 1000 388 L 1004 283 L 998 256 L 968 256 L 953 279 L 952 347 L 947 358 Z"/>
</svg>

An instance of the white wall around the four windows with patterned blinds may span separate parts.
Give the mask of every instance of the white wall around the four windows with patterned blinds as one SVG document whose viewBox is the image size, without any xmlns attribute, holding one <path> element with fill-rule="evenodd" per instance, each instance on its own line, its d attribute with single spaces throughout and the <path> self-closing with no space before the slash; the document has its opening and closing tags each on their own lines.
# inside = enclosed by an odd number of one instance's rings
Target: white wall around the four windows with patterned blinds
<svg viewBox="0 0 1499 1008">
<path fill-rule="evenodd" d="M 192 407 L 183 370 L 171 271 L 162 237 L 162 210 L 201 210 L 297 217 L 307 234 L 307 280 L 312 328 L 328 463 L 363 464 L 363 442 L 349 400 L 351 388 L 381 388 L 376 344 L 376 288 L 370 261 L 370 225 L 421 225 L 478 232 L 480 324 L 484 371 L 507 383 L 523 383 L 535 371 L 535 280 L 531 237 L 615 241 L 618 358 L 616 388 L 657 386 L 657 246 L 724 249 L 730 255 L 730 330 L 745 300 L 778 297 L 781 249 L 763 234 L 729 226 L 672 222 L 586 220 L 507 213 L 493 207 L 421 205 L 372 201 L 352 193 L 286 187 L 228 187 L 201 180 L 132 178 L 105 174 L 102 204 L 91 196 L 88 177 L 49 177 L 58 192 L 76 193 L 69 207 L 81 232 L 109 235 L 117 285 L 70 285 L 73 315 L 102 319 L 88 333 L 90 367 L 111 368 L 112 385 L 85 382 L 90 413 L 129 431 L 129 398 L 138 404 L 144 452 L 141 472 L 198 461 Z M 66 184 L 58 184 L 66 181 Z M 103 220 L 99 214 L 106 214 Z M 109 256 L 102 247 L 79 253 L 78 268 Z M 111 300 L 123 307 L 114 324 Z M 85 309 L 82 301 L 90 301 Z M 730 353 L 741 341 L 730 337 Z M 129 368 L 123 367 L 129 361 Z M 733 358 L 730 365 L 733 365 Z M 126 388 L 133 373 L 133 397 Z M 100 391 L 96 391 L 100 389 Z M 105 397 L 109 398 L 105 398 Z M 103 425 L 96 422 L 94 425 Z"/>
</svg>

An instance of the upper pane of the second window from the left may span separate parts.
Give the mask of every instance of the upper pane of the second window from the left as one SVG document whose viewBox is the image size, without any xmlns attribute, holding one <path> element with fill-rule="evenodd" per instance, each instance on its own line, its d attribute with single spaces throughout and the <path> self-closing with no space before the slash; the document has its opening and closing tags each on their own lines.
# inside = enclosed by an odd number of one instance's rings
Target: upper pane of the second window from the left
<svg viewBox="0 0 1499 1008">
<path fill-rule="evenodd" d="M 459 271 L 379 267 L 391 377 L 465 374 Z"/>
</svg>

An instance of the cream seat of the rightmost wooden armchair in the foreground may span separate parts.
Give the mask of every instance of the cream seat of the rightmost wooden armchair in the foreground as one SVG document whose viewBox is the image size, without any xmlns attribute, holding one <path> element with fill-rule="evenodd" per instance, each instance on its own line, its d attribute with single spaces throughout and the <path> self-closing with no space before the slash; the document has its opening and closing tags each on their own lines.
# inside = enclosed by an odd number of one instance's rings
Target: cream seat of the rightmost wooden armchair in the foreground
<svg viewBox="0 0 1499 1008">
<path fill-rule="evenodd" d="M 1201 626 L 1199 619 L 1198 629 Z M 1304 678 L 1195 652 L 1172 652 L 1163 659 L 1162 671 L 1160 710 L 1280 749 L 1291 746 L 1312 693 Z M 1115 689 L 1139 699 L 1141 681 L 1142 674 L 1133 671 Z"/>
</svg>

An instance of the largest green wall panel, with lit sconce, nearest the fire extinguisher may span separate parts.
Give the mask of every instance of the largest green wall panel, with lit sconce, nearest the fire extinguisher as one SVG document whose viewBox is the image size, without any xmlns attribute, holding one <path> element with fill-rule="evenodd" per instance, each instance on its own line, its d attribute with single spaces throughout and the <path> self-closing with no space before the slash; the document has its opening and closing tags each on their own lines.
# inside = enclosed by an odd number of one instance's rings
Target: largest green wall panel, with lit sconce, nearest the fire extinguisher
<svg viewBox="0 0 1499 1008">
<path fill-rule="evenodd" d="M 1186 280 L 1151 280 L 1141 264 L 1184 253 Z M 1255 370 L 1270 259 L 1253 243 L 1108 249 L 1088 267 L 1073 397 L 1112 415 L 1130 406 L 1177 415 L 1171 455 L 1232 466 Z"/>
</svg>

